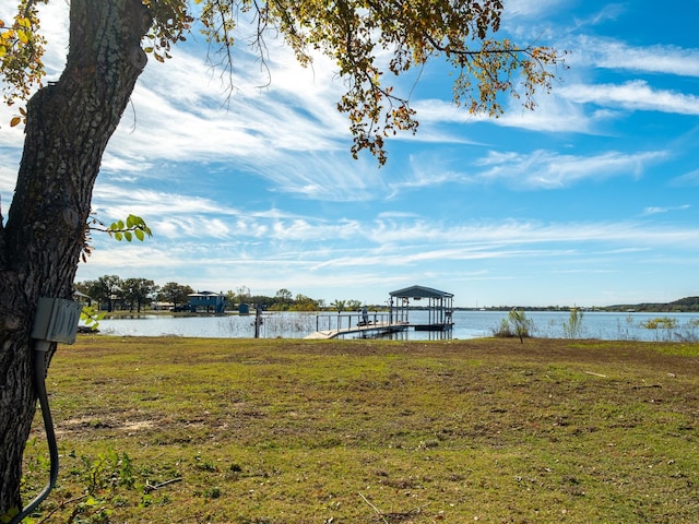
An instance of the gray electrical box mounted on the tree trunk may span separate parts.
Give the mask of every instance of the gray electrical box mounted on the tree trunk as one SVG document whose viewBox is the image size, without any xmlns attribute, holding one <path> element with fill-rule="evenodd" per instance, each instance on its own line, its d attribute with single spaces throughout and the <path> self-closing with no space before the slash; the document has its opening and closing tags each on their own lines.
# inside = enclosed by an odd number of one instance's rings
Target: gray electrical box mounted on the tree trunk
<svg viewBox="0 0 699 524">
<path fill-rule="evenodd" d="M 72 344 L 83 307 L 63 298 L 40 297 L 32 327 L 32 338 Z"/>
</svg>

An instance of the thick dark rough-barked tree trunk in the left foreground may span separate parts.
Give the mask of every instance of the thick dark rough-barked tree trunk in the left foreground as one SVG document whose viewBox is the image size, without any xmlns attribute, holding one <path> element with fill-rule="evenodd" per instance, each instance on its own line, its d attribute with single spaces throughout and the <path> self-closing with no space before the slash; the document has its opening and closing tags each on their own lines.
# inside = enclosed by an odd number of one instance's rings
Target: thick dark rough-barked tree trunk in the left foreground
<svg viewBox="0 0 699 524">
<path fill-rule="evenodd" d="M 140 0 L 72 0 L 66 70 L 27 104 L 16 189 L 4 227 L 0 219 L 0 516 L 22 505 L 36 303 L 72 298 L 93 186 L 145 66 L 150 25 Z"/>
</svg>

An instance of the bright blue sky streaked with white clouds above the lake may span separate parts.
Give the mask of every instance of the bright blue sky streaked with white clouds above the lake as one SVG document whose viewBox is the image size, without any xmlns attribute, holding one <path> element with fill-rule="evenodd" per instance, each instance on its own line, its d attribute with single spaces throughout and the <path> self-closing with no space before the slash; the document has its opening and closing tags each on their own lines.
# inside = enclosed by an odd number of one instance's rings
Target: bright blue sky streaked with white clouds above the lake
<svg viewBox="0 0 699 524">
<path fill-rule="evenodd" d="M 10 5 L 0 10 L 10 9 Z M 49 76 L 64 63 L 64 2 L 49 4 Z M 270 41 L 271 84 L 239 48 L 235 92 L 200 38 L 151 60 L 104 157 L 94 210 L 154 231 L 95 235 L 78 279 L 105 274 L 199 290 L 286 288 L 383 303 L 419 284 L 458 306 L 606 306 L 699 295 L 699 0 L 510 0 L 501 36 L 567 49 L 536 111 L 497 120 L 450 104 L 439 63 L 413 90 L 417 135 L 378 168 L 353 160 L 333 64 Z M 4 13 L 0 13 L 4 16 Z M 10 111 L 0 110 L 2 122 Z M 0 129 L 4 214 L 22 132 Z"/>
</svg>

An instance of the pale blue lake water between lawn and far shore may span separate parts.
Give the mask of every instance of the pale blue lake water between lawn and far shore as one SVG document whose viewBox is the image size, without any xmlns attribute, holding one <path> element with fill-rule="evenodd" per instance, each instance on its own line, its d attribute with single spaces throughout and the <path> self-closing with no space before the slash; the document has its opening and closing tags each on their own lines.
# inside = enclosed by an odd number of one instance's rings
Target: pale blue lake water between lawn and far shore
<svg viewBox="0 0 699 524">
<path fill-rule="evenodd" d="M 328 314 L 328 313 L 323 313 Z M 493 336 L 505 311 L 454 311 L 451 332 L 416 332 L 407 330 L 393 334 L 401 340 L 477 338 Z M 569 313 L 528 311 L 534 323 L 532 334 L 545 338 L 565 337 L 564 325 Z M 648 329 L 642 324 L 651 319 L 674 319 L 671 329 Z M 410 321 L 426 322 L 427 313 L 411 311 Z M 317 329 L 316 313 L 264 313 L 260 336 L 263 338 L 303 338 Z M 119 336 L 187 336 L 211 338 L 246 338 L 254 336 L 254 315 L 225 317 L 162 317 L 142 315 L 131 319 L 111 319 L 99 322 L 99 333 Z M 699 313 L 606 313 L 584 312 L 580 338 L 628 341 L 697 341 Z"/>
</svg>

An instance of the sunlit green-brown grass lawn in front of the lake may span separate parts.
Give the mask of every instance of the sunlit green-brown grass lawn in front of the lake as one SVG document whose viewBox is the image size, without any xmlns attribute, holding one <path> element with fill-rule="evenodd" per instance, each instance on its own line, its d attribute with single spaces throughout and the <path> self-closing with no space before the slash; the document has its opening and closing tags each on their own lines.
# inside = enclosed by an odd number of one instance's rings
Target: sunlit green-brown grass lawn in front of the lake
<svg viewBox="0 0 699 524">
<path fill-rule="evenodd" d="M 47 388 L 34 522 L 699 522 L 699 344 L 84 335 Z"/>
</svg>

